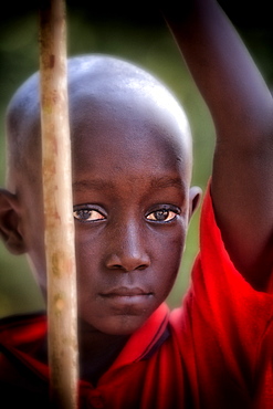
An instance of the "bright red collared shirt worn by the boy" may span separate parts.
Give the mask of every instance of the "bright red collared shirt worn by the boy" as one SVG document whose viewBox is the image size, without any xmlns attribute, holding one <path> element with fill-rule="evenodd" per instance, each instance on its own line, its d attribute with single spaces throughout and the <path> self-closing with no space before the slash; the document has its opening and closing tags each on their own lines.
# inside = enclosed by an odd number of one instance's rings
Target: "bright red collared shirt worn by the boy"
<svg viewBox="0 0 273 409">
<path fill-rule="evenodd" d="M 207 195 L 200 254 L 182 306 L 162 304 L 129 338 L 96 387 L 80 380 L 81 408 L 273 408 L 273 296 L 254 291 L 224 250 Z M 35 348 L 44 315 L 0 326 L 0 394 L 7 408 L 49 408 L 49 369 Z"/>
</svg>

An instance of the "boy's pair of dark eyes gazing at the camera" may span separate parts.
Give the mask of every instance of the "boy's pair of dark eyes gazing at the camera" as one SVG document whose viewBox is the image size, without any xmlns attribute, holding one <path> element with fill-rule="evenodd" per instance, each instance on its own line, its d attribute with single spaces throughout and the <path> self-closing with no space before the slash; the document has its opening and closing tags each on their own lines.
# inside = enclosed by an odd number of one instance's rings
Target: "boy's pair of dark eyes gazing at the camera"
<svg viewBox="0 0 273 409">
<path fill-rule="evenodd" d="M 95 213 L 97 217 L 90 219 L 90 217 L 94 217 Z M 146 213 L 145 218 L 149 222 L 154 223 L 167 223 L 171 222 L 176 219 L 176 217 L 180 213 L 180 210 L 178 208 L 174 207 L 159 207 L 158 209 L 155 209 L 148 213 Z M 82 207 L 78 209 L 74 209 L 73 216 L 76 220 L 78 220 L 82 223 L 94 223 L 96 221 L 106 220 L 106 216 L 96 208 L 88 208 Z M 90 220 L 88 220 L 90 219 Z"/>
</svg>

